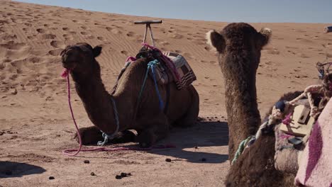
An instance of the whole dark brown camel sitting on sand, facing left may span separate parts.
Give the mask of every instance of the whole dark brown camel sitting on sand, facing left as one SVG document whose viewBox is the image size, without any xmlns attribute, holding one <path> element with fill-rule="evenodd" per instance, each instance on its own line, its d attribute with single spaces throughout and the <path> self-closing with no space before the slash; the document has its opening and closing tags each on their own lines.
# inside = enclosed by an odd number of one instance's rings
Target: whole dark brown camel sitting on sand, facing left
<svg viewBox="0 0 332 187">
<path fill-rule="evenodd" d="M 149 59 L 141 58 L 127 67 L 118 80 L 114 94 L 109 94 L 101 81 L 101 69 L 95 59 L 100 53 L 101 47 L 92 48 L 87 43 L 69 45 L 61 53 L 62 66 L 70 69 L 77 94 L 94 124 L 79 130 L 84 145 L 101 140 L 100 130 L 108 134 L 116 131 L 114 109 L 118 111 L 118 131 L 136 130 L 138 135 L 135 141 L 141 147 L 150 147 L 165 137 L 170 125 L 189 126 L 196 123 L 199 95 L 194 86 L 178 90 L 174 82 L 170 83 L 169 104 L 167 111 L 162 111 L 153 80 L 148 78 L 138 101 L 144 74 L 150 62 Z M 165 101 L 167 86 L 158 85 L 158 89 Z"/>
</svg>

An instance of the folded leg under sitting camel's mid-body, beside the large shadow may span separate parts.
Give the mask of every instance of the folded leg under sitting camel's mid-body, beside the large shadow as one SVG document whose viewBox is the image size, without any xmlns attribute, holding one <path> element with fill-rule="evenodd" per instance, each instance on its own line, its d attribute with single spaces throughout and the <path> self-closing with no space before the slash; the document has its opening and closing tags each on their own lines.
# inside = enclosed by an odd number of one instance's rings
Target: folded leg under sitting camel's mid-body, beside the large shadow
<svg viewBox="0 0 332 187">
<path fill-rule="evenodd" d="M 168 135 L 170 123 L 164 113 L 154 115 L 153 119 L 145 120 L 142 123 L 146 128 L 138 130 L 136 137 L 136 142 L 140 144 L 140 147 L 151 147 L 155 142 Z"/>
</svg>

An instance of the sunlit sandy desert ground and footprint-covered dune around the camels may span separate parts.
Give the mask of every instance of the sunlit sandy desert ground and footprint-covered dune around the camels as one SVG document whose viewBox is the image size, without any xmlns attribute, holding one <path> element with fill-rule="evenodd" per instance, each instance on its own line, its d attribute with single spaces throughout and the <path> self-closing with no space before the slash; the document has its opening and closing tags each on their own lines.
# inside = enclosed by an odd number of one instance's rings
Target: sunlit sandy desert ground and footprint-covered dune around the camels
<svg viewBox="0 0 332 187">
<path fill-rule="evenodd" d="M 67 157 L 62 150 L 76 148 L 77 142 L 72 139 L 66 82 L 60 77 L 62 48 L 75 42 L 102 45 L 97 60 L 111 89 L 126 57 L 140 49 L 143 26 L 133 21 L 152 18 L 0 3 L 0 186 L 223 186 L 229 168 L 223 77 L 216 53 L 205 44 L 205 33 L 227 23 L 163 19 L 153 26 L 157 47 L 181 53 L 192 65 L 200 116 L 206 119 L 193 128 L 175 128 L 160 142 L 175 149 Z M 323 33 L 327 25 L 253 24 L 273 32 L 257 75 L 262 114 L 282 93 L 316 83 L 316 62 L 332 57 L 332 35 Z M 91 125 L 72 91 L 79 126 Z M 165 162 L 167 158 L 172 162 Z M 121 172 L 132 176 L 116 179 Z"/>
</svg>

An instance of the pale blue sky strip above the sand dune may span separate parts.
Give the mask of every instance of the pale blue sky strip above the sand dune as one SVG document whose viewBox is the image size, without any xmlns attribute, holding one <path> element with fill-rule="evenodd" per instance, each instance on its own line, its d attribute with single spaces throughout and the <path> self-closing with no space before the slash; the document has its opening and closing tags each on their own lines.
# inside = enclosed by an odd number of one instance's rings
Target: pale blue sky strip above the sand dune
<svg viewBox="0 0 332 187">
<path fill-rule="evenodd" d="M 18 0 L 135 16 L 226 22 L 332 23 L 332 0 Z"/>
</svg>

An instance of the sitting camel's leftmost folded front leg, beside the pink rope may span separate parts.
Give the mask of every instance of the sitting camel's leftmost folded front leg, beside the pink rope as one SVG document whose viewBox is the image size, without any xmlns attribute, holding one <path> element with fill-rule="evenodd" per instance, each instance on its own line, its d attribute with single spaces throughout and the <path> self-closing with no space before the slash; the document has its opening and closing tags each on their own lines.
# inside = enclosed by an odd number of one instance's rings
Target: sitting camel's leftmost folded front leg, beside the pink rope
<svg viewBox="0 0 332 187">
<path fill-rule="evenodd" d="M 100 130 L 94 126 L 89 128 L 80 128 L 79 135 L 81 135 L 82 145 L 96 144 L 96 142 L 103 139 Z M 74 135 L 74 139 L 79 142 L 77 132 Z"/>
</svg>

